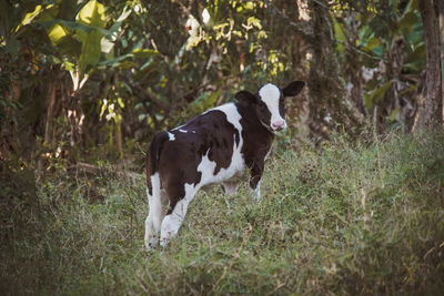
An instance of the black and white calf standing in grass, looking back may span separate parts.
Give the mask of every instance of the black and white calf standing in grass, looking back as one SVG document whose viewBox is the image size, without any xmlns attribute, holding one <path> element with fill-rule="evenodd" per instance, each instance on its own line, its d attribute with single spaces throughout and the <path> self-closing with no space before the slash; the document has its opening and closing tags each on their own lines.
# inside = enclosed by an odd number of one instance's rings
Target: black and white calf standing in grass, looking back
<svg viewBox="0 0 444 296">
<path fill-rule="evenodd" d="M 211 109 L 154 136 L 147 157 L 147 248 L 157 246 L 159 238 L 164 246 L 176 235 L 188 205 L 204 185 L 222 183 L 226 193 L 234 194 L 239 175 L 249 169 L 250 188 L 259 201 L 274 133 L 286 127 L 284 98 L 303 86 L 304 82 L 293 81 L 283 89 L 265 84 L 255 94 L 238 92 L 236 103 Z"/>
</svg>

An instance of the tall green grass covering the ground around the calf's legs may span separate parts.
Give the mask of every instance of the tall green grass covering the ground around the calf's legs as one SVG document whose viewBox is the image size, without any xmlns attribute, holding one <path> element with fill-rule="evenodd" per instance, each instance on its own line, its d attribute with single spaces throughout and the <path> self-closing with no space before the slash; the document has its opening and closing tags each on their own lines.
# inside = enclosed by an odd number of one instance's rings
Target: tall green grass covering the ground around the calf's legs
<svg viewBox="0 0 444 296">
<path fill-rule="evenodd" d="M 437 294 L 444 135 L 276 145 L 253 204 L 200 192 L 147 252 L 142 175 L 54 176 L 2 206 L 2 294 Z M 32 187 L 24 176 L 18 176 Z M 19 182 L 19 181 L 16 181 Z M 28 183 L 27 183 L 28 182 Z"/>
</svg>

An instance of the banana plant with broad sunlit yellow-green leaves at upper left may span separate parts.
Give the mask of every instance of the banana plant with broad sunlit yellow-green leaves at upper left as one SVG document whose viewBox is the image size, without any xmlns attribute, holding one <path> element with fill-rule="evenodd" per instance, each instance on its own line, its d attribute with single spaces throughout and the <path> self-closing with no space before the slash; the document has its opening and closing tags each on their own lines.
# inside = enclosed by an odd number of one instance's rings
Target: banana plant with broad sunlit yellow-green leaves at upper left
<svg viewBox="0 0 444 296">
<path fill-rule="evenodd" d="M 97 0 L 79 7 L 75 3 L 77 1 L 71 0 L 39 4 L 24 16 L 17 28 L 20 30 L 28 24 L 43 25 L 52 45 L 61 54 L 58 57 L 59 62 L 71 74 L 74 92 L 84 85 L 101 63 L 120 61 L 114 59 L 112 49 L 122 22 L 132 12 L 131 6 L 127 6 L 117 21 L 107 29 L 109 18 L 105 6 Z"/>
</svg>

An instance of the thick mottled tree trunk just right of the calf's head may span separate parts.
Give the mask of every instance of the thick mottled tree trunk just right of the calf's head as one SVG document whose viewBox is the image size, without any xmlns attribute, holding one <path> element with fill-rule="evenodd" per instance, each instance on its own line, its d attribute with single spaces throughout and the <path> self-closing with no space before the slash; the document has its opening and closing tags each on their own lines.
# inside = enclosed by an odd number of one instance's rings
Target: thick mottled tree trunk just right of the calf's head
<svg viewBox="0 0 444 296">
<path fill-rule="evenodd" d="M 325 0 L 310 1 L 309 9 L 313 28 L 313 34 L 307 37 L 313 54 L 307 79 L 309 126 L 312 133 L 329 137 L 336 124 L 349 130 L 359 122 L 345 104 L 329 6 Z"/>
</svg>

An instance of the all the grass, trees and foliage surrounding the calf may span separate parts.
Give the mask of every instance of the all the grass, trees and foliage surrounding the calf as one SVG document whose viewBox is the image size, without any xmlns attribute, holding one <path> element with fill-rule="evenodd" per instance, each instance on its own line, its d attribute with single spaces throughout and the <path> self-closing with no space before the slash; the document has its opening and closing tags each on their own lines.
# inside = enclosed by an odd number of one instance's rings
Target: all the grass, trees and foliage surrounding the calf
<svg viewBox="0 0 444 296">
<path fill-rule="evenodd" d="M 0 290 L 443 290 L 443 32 L 437 0 L 0 1 Z M 148 253 L 152 136 L 294 79 L 264 198 L 200 193 Z"/>
</svg>

